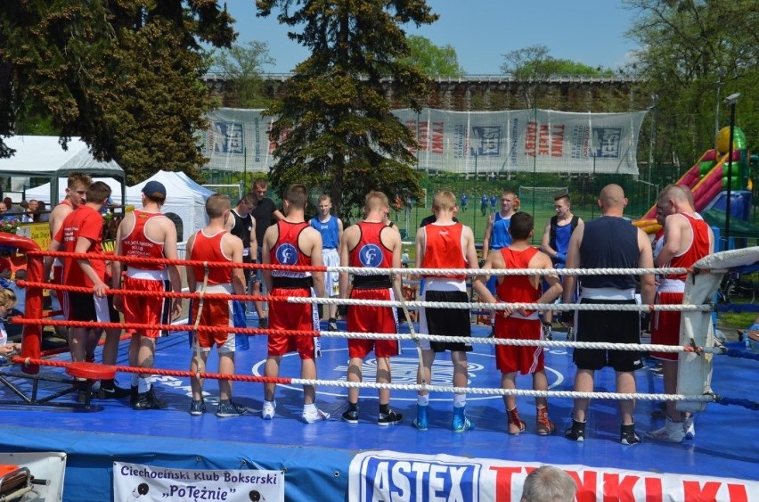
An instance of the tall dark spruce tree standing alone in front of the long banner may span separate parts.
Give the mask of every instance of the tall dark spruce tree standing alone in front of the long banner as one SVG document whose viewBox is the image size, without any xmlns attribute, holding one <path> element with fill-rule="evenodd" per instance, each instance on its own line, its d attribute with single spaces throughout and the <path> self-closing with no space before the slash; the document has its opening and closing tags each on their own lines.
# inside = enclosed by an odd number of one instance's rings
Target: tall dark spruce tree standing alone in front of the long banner
<svg viewBox="0 0 759 502">
<path fill-rule="evenodd" d="M 273 185 L 320 188 L 342 218 L 357 215 L 370 190 L 419 200 L 414 135 L 384 93 L 408 96 L 420 110 L 428 79 L 401 62 L 411 52 L 399 25 L 437 16 L 424 0 L 257 0 L 260 16 L 275 7 L 280 22 L 302 29 L 290 38 L 312 53 L 266 111 L 278 117 Z"/>
</svg>

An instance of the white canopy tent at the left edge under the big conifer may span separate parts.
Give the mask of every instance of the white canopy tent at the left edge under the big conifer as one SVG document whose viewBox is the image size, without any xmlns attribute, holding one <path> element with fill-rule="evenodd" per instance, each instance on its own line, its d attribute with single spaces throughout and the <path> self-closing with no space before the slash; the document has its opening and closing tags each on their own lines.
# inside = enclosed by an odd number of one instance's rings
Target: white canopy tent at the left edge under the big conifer
<svg viewBox="0 0 759 502">
<path fill-rule="evenodd" d="M 123 197 L 126 187 L 123 183 L 124 169 L 115 160 L 95 160 L 81 138 L 72 137 L 68 150 L 63 150 L 58 136 L 11 136 L 3 141 L 16 152 L 9 159 L 0 159 L 0 176 L 51 178 L 50 197 L 47 200 L 52 205 L 60 202 L 58 178 L 68 177 L 74 172 L 121 180 L 121 189 L 113 198 L 118 201 Z"/>
</svg>

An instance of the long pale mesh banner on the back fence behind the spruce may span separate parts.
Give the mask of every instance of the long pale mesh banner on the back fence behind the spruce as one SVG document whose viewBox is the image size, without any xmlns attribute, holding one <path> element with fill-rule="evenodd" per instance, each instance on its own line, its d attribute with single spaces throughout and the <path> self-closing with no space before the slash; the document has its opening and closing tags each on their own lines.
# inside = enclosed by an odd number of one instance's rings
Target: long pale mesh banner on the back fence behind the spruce
<svg viewBox="0 0 759 502">
<path fill-rule="evenodd" d="M 461 174 L 548 172 L 638 174 L 636 148 L 645 111 L 551 110 L 393 112 L 420 144 L 419 169 Z M 267 171 L 273 117 L 260 110 L 208 113 L 201 138 L 208 169 Z"/>
</svg>

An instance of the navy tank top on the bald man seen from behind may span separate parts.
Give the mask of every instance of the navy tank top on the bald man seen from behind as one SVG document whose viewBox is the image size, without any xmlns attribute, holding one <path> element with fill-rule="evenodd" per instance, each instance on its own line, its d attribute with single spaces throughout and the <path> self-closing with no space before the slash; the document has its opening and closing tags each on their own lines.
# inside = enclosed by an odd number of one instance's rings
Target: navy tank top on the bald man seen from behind
<svg viewBox="0 0 759 502">
<path fill-rule="evenodd" d="M 568 226 L 568 225 L 567 225 Z M 638 227 L 624 218 L 602 216 L 585 224 L 581 268 L 637 268 Z M 635 276 L 581 276 L 586 288 L 635 289 Z"/>
</svg>

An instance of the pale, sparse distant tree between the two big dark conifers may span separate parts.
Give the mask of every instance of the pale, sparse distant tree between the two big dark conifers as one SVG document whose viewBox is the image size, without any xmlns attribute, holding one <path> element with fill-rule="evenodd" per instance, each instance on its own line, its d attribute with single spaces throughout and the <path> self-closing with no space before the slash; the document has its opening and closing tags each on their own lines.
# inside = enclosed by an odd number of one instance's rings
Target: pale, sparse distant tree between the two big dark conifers
<svg viewBox="0 0 759 502">
<path fill-rule="evenodd" d="M 240 108 L 265 108 L 270 100 L 264 94 L 265 65 L 274 64 L 269 56 L 269 45 L 252 41 L 247 46 L 233 45 L 214 57 L 211 71 L 216 71 L 227 82 L 229 94 Z"/>
</svg>

